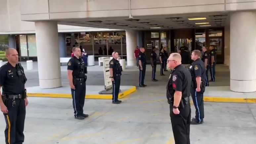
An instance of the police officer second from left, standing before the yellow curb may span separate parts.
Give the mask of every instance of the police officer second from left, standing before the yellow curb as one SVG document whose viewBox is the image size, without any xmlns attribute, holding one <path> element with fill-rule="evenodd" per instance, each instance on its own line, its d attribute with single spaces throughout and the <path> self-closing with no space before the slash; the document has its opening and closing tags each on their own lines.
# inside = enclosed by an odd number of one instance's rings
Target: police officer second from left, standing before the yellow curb
<svg viewBox="0 0 256 144">
<path fill-rule="evenodd" d="M 89 116 L 83 113 L 87 76 L 80 48 L 73 47 L 72 52 L 74 56 L 67 63 L 67 75 L 73 99 L 74 116 L 75 119 L 82 120 Z"/>
</svg>

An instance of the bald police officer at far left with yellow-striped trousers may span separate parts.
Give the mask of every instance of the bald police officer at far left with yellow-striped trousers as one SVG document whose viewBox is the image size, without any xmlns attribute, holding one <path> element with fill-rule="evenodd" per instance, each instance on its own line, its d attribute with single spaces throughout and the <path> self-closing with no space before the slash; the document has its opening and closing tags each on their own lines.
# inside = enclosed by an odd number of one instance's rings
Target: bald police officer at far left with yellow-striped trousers
<svg viewBox="0 0 256 144">
<path fill-rule="evenodd" d="M 18 52 L 14 48 L 6 50 L 8 63 L 0 68 L 0 106 L 4 113 L 6 129 L 6 144 L 21 144 L 24 142 L 24 122 L 26 106 L 25 82 L 26 76 L 21 64 L 18 63 Z"/>
</svg>

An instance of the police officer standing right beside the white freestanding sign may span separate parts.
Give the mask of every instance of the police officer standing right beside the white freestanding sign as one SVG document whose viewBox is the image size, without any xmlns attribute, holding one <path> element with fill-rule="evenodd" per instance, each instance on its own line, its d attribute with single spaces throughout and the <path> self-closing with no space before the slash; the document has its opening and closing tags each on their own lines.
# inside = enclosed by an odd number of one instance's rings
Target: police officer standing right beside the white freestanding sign
<svg viewBox="0 0 256 144">
<path fill-rule="evenodd" d="M 112 52 L 113 59 L 109 61 L 109 71 L 110 71 L 110 78 L 112 81 L 113 91 L 112 91 L 112 103 L 119 104 L 122 101 L 118 100 L 118 93 L 120 88 L 121 82 L 121 75 L 122 75 L 122 66 L 120 65 L 118 59 L 118 53 Z"/>
</svg>

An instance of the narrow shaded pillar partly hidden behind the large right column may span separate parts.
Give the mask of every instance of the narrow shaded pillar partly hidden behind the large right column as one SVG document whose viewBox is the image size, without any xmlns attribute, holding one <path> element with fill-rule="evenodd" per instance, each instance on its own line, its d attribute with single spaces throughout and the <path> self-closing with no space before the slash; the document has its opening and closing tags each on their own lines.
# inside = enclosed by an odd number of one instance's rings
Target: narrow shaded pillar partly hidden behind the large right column
<svg viewBox="0 0 256 144">
<path fill-rule="evenodd" d="M 230 66 L 230 25 L 225 26 L 225 46 L 224 46 L 224 53 L 225 53 L 225 61 L 224 64 Z"/>
</svg>

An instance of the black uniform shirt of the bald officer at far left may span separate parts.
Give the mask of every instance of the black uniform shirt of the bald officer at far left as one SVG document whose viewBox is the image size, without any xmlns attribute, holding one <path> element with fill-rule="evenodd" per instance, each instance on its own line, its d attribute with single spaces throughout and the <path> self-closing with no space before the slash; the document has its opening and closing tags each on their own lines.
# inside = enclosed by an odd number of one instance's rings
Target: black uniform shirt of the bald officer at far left
<svg viewBox="0 0 256 144">
<path fill-rule="evenodd" d="M 18 71 L 22 75 L 18 75 Z M 13 67 L 9 62 L 0 68 L 0 85 L 3 86 L 3 94 L 19 95 L 23 94 L 25 89 L 25 77 L 23 68 L 16 64 Z"/>
</svg>

